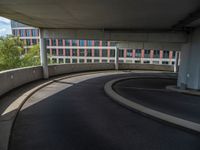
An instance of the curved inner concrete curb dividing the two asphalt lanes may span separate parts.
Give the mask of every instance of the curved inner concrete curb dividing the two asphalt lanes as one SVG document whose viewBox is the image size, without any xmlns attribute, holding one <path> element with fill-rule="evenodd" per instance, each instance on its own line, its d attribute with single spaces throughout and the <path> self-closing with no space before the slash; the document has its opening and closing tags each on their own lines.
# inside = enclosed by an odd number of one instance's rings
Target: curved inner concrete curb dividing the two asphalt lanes
<svg viewBox="0 0 200 150">
<path fill-rule="evenodd" d="M 133 101 L 130 101 L 124 97 L 122 97 L 121 95 L 119 95 L 118 93 L 116 93 L 112 86 L 119 81 L 122 80 L 128 80 L 128 79 L 134 79 L 137 77 L 129 77 L 129 78 L 119 78 L 119 79 L 115 79 L 115 80 L 111 80 L 109 82 L 107 82 L 104 86 L 104 91 L 106 92 L 106 94 L 111 97 L 114 101 L 118 102 L 119 104 L 126 106 L 130 109 L 139 111 L 143 114 L 149 115 L 153 118 L 168 122 L 170 124 L 185 128 L 185 129 L 189 129 L 195 132 L 200 132 L 200 124 L 192 122 L 192 121 L 188 121 L 188 120 L 184 120 L 172 115 L 168 115 L 156 110 L 153 110 L 151 108 L 145 107 L 143 105 L 140 105 L 138 103 L 135 103 Z M 141 77 L 139 77 L 141 78 Z"/>
</svg>

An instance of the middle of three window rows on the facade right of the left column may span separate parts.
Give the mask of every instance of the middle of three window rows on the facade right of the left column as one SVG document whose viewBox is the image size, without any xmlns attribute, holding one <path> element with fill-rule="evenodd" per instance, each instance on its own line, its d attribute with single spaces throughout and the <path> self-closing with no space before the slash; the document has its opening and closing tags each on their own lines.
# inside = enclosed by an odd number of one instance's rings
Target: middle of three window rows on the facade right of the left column
<svg viewBox="0 0 200 150">
<path fill-rule="evenodd" d="M 70 54 L 71 52 L 71 54 Z M 79 52 L 79 54 L 78 54 Z M 115 50 L 111 49 L 110 54 L 107 49 L 102 49 L 102 57 L 115 57 Z M 50 54 L 50 50 L 48 50 L 48 53 Z M 64 55 L 65 53 L 65 55 Z M 92 49 L 52 49 L 52 56 L 87 56 L 87 57 L 92 57 Z M 126 55 L 127 58 L 132 58 L 133 57 L 133 50 L 128 49 L 126 51 L 126 54 L 124 54 L 124 50 L 119 50 L 119 57 L 124 57 Z M 172 52 L 172 58 L 175 58 L 176 52 Z M 100 56 L 100 50 L 99 49 L 94 49 L 94 57 L 99 57 Z M 141 58 L 141 49 L 136 49 L 135 50 L 135 58 Z M 150 58 L 150 50 L 144 50 L 144 58 Z M 160 58 L 160 50 L 154 50 L 153 51 L 153 58 Z M 169 58 L 169 51 L 163 51 L 162 58 Z"/>
</svg>

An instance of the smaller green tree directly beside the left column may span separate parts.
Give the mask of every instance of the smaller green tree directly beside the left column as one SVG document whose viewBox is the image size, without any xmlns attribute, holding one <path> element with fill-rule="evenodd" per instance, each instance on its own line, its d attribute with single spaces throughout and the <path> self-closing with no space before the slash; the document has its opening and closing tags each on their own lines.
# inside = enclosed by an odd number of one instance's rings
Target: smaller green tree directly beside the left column
<svg viewBox="0 0 200 150">
<path fill-rule="evenodd" d="M 34 45 L 28 49 L 27 53 L 22 57 L 22 66 L 38 66 L 40 65 L 40 47 Z"/>
</svg>

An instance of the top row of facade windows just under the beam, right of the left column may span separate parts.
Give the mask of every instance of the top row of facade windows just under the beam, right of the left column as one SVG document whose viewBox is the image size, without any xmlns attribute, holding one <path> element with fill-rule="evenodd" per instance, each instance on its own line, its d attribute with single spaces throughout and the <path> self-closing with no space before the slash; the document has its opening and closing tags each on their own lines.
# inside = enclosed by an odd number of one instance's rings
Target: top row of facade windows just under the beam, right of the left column
<svg viewBox="0 0 200 150">
<path fill-rule="evenodd" d="M 48 39 L 47 46 L 115 46 L 115 42 L 98 41 L 98 40 L 63 40 L 63 39 Z"/>
</svg>

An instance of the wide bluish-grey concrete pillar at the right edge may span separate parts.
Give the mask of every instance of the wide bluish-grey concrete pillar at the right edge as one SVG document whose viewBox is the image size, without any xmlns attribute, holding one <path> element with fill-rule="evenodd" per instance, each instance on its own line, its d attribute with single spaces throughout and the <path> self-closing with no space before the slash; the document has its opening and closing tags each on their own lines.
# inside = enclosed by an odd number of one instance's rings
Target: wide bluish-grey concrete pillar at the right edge
<svg viewBox="0 0 200 150">
<path fill-rule="evenodd" d="M 189 42 L 182 45 L 178 87 L 200 90 L 200 28 L 195 29 Z"/>
</svg>

